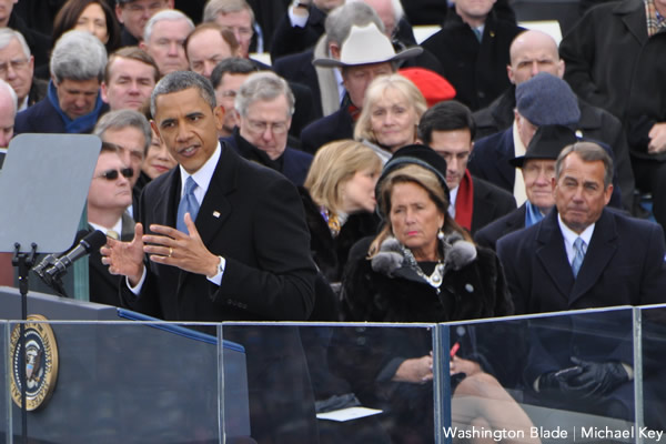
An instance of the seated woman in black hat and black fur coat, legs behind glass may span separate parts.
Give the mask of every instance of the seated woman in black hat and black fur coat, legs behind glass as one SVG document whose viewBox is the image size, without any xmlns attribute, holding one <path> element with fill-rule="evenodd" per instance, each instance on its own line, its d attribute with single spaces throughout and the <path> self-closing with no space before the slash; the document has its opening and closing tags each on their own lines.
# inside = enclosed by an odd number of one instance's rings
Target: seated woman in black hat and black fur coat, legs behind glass
<svg viewBox="0 0 666 444">
<path fill-rule="evenodd" d="M 356 255 L 347 264 L 345 321 L 438 323 L 512 314 L 497 256 L 474 245 L 448 216 L 443 158 L 424 145 L 405 147 L 384 167 L 377 190 L 386 223 L 367 256 Z M 344 363 L 344 376 L 361 402 L 384 410 L 395 442 L 432 442 L 432 333 L 365 329 L 356 343 L 362 345 L 345 350 L 346 359 L 335 362 Z M 454 423 L 521 428 L 525 441 L 504 442 L 538 442 L 529 440 L 526 414 L 481 365 L 454 357 L 451 369 L 457 374 L 452 379 Z M 456 408 L 462 397 L 464 408 Z"/>
</svg>

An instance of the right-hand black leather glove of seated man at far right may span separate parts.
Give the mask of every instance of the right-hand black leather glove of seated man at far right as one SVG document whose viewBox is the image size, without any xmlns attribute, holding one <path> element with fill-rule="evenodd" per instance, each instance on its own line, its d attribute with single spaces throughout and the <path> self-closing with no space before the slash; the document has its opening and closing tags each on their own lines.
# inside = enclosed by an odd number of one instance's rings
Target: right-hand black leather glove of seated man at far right
<svg viewBox="0 0 666 444">
<path fill-rule="evenodd" d="M 588 362 L 572 357 L 572 362 L 583 370 L 569 379 L 569 384 L 585 392 L 586 397 L 607 394 L 629 380 L 629 375 L 619 362 Z"/>
</svg>

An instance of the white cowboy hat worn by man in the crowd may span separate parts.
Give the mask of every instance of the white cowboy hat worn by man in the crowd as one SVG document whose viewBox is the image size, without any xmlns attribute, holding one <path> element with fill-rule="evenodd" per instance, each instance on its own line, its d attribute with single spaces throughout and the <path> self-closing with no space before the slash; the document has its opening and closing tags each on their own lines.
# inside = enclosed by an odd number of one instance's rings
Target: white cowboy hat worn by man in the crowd
<svg viewBox="0 0 666 444">
<path fill-rule="evenodd" d="M 422 52 L 423 48 L 414 47 L 395 53 L 391 40 L 374 22 L 370 22 L 362 27 L 352 26 L 350 36 L 342 42 L 340 60 L 322 58 L 314 59 L 312 63 L 324 68 L 354 67 L 410 59 Z"/>
</svg>

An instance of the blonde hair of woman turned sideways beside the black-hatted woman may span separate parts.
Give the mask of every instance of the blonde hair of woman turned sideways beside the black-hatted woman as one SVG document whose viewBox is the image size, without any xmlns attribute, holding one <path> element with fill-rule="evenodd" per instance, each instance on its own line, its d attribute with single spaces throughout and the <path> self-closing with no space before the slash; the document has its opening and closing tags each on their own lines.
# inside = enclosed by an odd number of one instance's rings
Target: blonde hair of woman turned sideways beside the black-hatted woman
<svg viewBox="0 0 666 444">
<path fill-rule="evenodd" d="M 354 140 L 326 143 L 314 155 L 303 186 L 317 205 L 337 213 L 342 205 L 342 184 L 365 169 L 377 174 L 382 171 L 382 161 L 371 148 Z"/>
</svg>

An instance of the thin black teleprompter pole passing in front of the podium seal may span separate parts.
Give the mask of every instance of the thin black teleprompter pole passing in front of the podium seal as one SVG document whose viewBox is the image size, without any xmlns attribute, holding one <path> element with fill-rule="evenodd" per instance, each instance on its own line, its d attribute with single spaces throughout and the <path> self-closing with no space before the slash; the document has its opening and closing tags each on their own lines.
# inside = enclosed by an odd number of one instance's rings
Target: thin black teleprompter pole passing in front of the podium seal
<svg viewBox="0 0 666 444">
<path fill-rule="evenodd" d="M 21 244 L 14 243 L 14 253 L 11 264 L 18 268 L 19 291 L 21 293 L 21 320 L 19 334 L 21 335 L 21 353 L 19 355 L 19 377 L 21 380 L 21 435 L 23 443 L 28 443 L 28 410 L 27 410 L 27 381 L 26 381 L 26 321 L 28 320 L 28 287 L 30 269 L 34 265 L 37 243 L 32 242 L 30 253 L 21 253 Z"/>
</svg>

